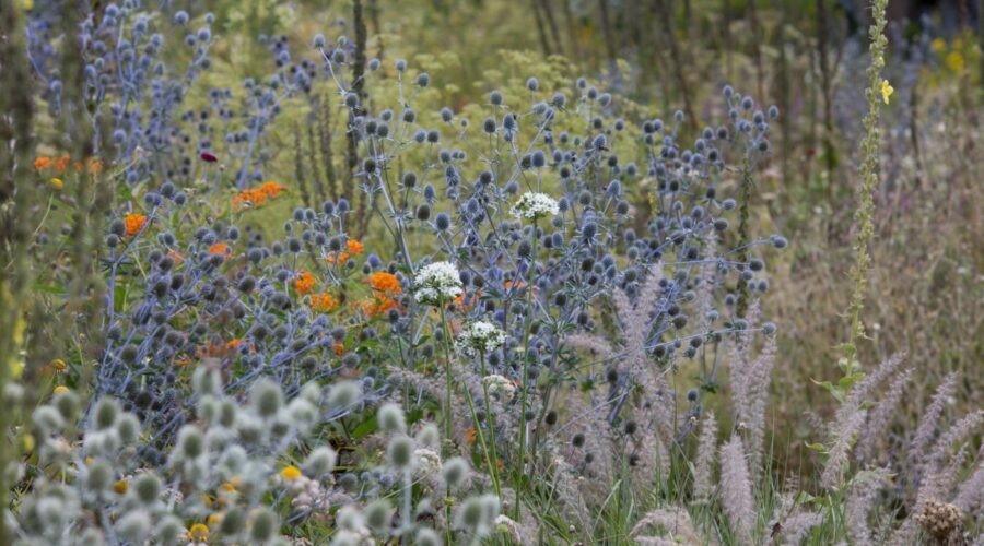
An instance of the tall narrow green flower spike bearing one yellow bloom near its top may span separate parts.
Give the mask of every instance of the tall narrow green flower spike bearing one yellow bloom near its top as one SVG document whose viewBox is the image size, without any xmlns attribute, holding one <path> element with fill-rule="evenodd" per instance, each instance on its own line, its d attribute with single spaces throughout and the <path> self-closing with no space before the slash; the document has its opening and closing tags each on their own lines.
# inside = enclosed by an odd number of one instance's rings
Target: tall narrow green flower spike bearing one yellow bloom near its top
<svg viewBox="0 0 984 546">
<path fill-rule="evenodd" d="M 871 0 L 871 26 L 869 37 L 871 40 L 869 55 L 871 64 L 868 67 L 868 87 L 865 97 L 868 103 L 868 112 L 865 116 L 865 138 L 862 142 L 864 159 L 860 166 L 862 185 L 858 187 L 858 205 L 854 214 L 857 224 L 857 236 L 854 240 L 854 268 L 851 278 L 854 283 L 854 294 L 847 307 L 851 333 L 844 343 L 844 372 L 851 376 L 854 372 L 857 358 L 857 343 L 865 337 L 865 327 L 862 322 L 862 309 L 865 304 L 865 292 L 868 286 L 868 270 L 871 266 L 871 256 L 868 246 L 875 237 L 875 190 L 878 189 L 878 163 L 879 147 L 881 145 L 881 130 L 879 119 L 881 103 L 879 94 L 886 80 L 881 78 L 881 69 L 885 68 L 885 50 L 888 39 L 885 37 L 886 8 L 888 0 Z"/>
</svg>

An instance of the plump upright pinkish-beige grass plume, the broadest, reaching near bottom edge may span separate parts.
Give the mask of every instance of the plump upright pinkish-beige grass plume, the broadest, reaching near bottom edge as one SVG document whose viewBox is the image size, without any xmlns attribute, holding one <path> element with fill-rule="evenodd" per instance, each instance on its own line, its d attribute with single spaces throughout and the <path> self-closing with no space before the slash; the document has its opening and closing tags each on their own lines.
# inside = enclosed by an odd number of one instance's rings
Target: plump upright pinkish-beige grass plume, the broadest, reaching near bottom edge
<svg viewBox="0 0 984 546">
<path fill-rule="evenodd" d="M 751 544 L 755 501 L 745 447 L 737 435 L 721 448 L 721 503 L 738 539 Z"/>
</svg>

